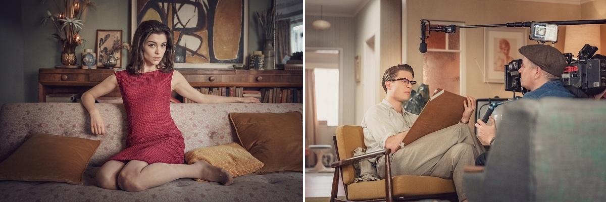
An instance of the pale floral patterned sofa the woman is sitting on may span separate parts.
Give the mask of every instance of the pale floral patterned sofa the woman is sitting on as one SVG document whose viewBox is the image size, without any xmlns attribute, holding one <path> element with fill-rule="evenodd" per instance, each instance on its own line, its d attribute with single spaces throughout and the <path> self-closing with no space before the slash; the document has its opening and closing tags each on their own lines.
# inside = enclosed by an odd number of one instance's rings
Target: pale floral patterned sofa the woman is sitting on
<svg viewBox="0 0 606 202">
<path fill-rule="evenodd" d="M 99 167 L 118 153 L 126 138 L 122 104 L 97 104 L 107 133 L 90 132 L 90 116 L 79 103 L 12 103 L 0 110 L 0 162 L 32 133 L 101 140 L 80 184 L 0 181 L 0 201 L 302 201 L 303 173 L 274 172 L 234 178 L 231 186 L 182 178 L 141 192 L 96 186 Z M 171 104 L 171 115 L 185 138 L 185 152 L 238 142 L 230 112 L 302 112 L 302 104 Z M 301 152 L 302 153 L 302 152 Z"/>
</svg>

